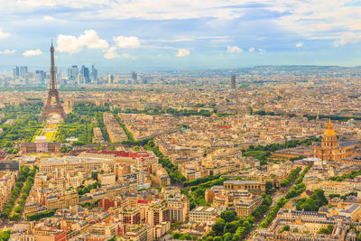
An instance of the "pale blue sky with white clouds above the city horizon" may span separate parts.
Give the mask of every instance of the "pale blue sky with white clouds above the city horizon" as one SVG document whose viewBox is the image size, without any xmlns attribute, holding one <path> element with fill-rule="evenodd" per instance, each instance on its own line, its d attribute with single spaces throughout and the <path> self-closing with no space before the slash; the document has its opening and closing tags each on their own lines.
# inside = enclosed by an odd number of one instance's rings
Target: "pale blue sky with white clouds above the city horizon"
<svg viewBox="0 0 361 241">
<path fill-rule="evenodd" d="M 361 65 L 361 1 L 0 0 L 0 65 Z"/>
</svg>

